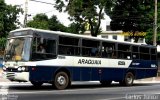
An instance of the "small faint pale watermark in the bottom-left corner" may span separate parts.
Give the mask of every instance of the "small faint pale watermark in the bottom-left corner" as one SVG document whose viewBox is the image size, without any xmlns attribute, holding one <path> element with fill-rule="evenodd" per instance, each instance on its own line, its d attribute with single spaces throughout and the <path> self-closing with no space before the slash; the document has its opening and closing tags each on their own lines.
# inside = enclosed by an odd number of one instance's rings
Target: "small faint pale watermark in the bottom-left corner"
<svg viewBox="0 0 160 100">
<path fill-rule="evenodd" d="M 18 95 L 0 94 L 0 100 L 18 100 Z"/>
</svg>

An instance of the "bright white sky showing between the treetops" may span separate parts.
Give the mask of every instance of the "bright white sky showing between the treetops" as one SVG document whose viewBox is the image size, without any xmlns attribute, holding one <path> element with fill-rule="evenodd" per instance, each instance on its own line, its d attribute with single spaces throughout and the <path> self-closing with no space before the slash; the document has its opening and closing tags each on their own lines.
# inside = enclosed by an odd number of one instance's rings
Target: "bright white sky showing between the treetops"
<svg viewBox="0 0 160 100">
<path fill-rule="evenodd" d="M 25 1 L 26 0 L 5 0 L 7 4 L 11 5 L 21 5 L 21 7 L 25 8 Z M 54 3 L 54 0 L 37 0 L 37 1 L 43 1 L 47 3 Z M 65 26 L 68 26 L 71 22 L 68 20 L 69 15 L 67 13 L 60 13 L 58 12 L 53 5 L 29 1 L 28 0 L 28 14 L 31 14 L 30 17 L 28 17 L 28 20 L 31 20 L 36 14 L 38 13 L 45 13 L 49 18 L 52 15 L 56 15 L 58 20 L 64 24 Z M 102 30 L 106 29 L 106 24 L 109 25 L 110 18 L 105 15 L 105 19 L 101 22 L 101 28 Z M 23 24 L 24 21 L 24 15 L 20 15 L 19 17 L 20 22 Z"/>
</svg>

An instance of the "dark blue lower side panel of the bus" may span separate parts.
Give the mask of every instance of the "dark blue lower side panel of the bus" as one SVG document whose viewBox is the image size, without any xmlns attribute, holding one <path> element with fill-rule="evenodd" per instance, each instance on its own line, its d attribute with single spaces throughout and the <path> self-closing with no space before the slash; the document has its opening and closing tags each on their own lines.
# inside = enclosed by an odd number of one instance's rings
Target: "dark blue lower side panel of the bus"
<svg viewBox="0 0 160 100">
<path fill-rule="evenodd" d="M 144 64 L 147 62 L 143 62 Z M 149 64 L 149 63 L 147 63 Z M 141 63 L 141 65 L 143 65 Z M 144 68 L 141 65 L 134 66 L 136 68 Z M 149 64 L 150 65 L 150 64 Z M 148 66 L 147 66 L 148 67 Z M 32 70 L 35 68 L 35 70 Z M 62 67 L 61 67 L 62 68 Z M 135 79 L 154 77 L 157 75 L 157 69 L 130 69 L 132 68 L 97 68 L 97 67 L 64 67 L 70 73 L 72 81 L 98 81 L 98 80 L 113 80 L 121 81 L 124 79 L 128 70 L 132 70 L 135 74 Z M 58 66 L 36 66 L 30 67 L 30 81 L 53 81 L 55 72 L 60 69 Z"/>
</svg>

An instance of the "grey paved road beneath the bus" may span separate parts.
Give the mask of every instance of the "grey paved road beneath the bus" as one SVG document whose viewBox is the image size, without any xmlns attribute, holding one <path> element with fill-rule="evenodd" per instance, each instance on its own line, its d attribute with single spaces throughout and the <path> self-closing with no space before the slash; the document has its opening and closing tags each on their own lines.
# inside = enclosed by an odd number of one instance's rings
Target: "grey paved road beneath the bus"
<svg viewBox="0 0 160 100">
<path fill-rule="evenodd" d="M 45 84 L 35 88 L 30 83 L 0 84 L 0 100 L 159 100 L 160 83 L 136 83 L 123 87 L 114 83 L 78 83 L 66 90 L 55 90 Z"/>
</svg>

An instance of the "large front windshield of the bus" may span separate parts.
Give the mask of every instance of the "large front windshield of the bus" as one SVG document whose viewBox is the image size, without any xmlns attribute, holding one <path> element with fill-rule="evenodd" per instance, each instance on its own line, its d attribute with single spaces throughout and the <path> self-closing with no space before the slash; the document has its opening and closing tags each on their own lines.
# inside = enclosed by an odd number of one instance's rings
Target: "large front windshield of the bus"
<svg viewBox="0 0 160 100">
<path fill-rule="evenodd" d="M 30 55 L 31 38 L 21 37 L 8 39 L 5 61 L 28 61 Z"/>
</svg>

